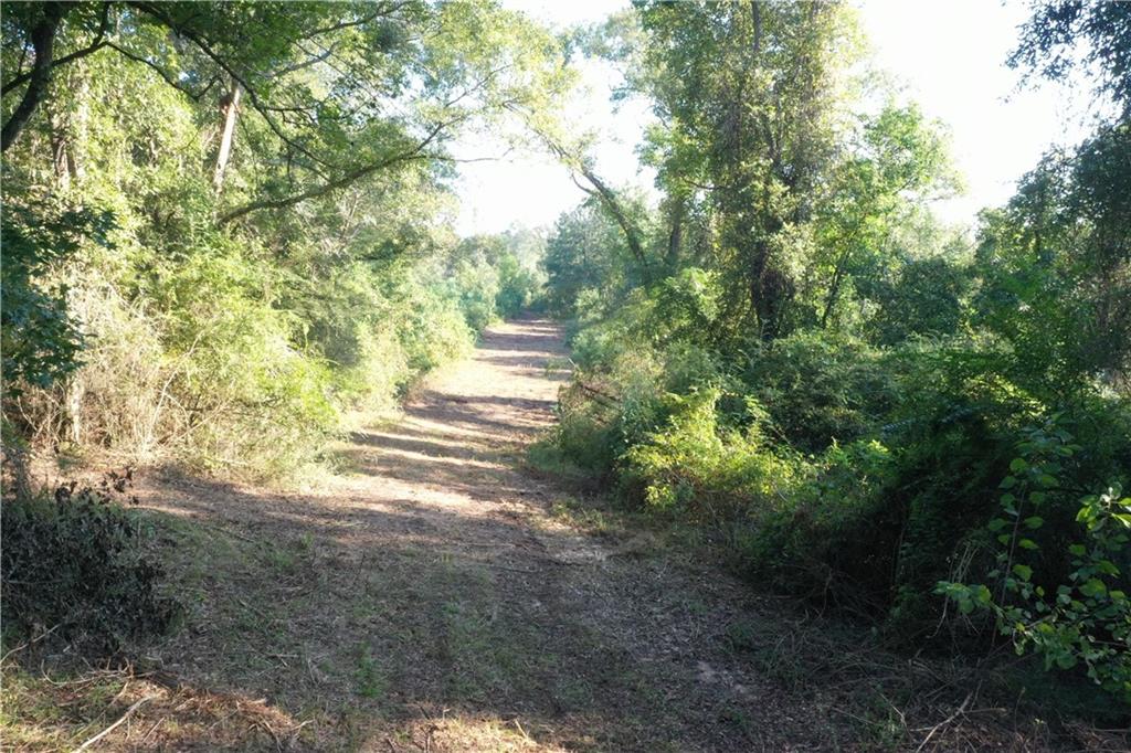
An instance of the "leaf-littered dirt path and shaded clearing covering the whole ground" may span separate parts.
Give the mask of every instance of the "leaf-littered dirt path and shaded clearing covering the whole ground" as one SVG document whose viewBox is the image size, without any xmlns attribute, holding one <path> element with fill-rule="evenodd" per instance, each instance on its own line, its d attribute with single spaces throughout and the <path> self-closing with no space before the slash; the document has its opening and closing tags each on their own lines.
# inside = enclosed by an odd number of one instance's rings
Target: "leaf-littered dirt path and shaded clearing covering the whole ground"
<svg viewBox="0 0 1131 753">
<path fill-rule="evenodd" d="M 143 476 L 182 624 L 124 668 L 7 672 L 6 747 L 122 720 L 92 747 L 1062 748 L 958 668 L 831 631 L 533 469 L 566 355 L 549 321 L 492 328 L 317 491 Z"/>
</svg>

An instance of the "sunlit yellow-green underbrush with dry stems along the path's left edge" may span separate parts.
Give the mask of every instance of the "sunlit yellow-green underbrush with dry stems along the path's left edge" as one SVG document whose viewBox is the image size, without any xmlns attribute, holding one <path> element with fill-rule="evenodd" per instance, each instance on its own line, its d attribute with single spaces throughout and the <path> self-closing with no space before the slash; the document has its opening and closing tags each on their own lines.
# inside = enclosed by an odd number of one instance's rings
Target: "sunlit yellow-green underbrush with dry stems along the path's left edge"
<svg viewBox="0 0 1131 753">
<path fill-rule="evenodd" d="M 63 376 L 8 390 L 14 435 L 49 452 L 285 479 L 320 462 L 349 417 L 392 408 L 464 357 L 497 318 L 474 275 L 440 284 L 409 267 L 390 280 L 354 265 L 288 289 L 253 246 L 199 243 L 218 246 L 158 262 L 149 279 L 97 248 L 52 272 L 81 348 Z"/>
</svg>

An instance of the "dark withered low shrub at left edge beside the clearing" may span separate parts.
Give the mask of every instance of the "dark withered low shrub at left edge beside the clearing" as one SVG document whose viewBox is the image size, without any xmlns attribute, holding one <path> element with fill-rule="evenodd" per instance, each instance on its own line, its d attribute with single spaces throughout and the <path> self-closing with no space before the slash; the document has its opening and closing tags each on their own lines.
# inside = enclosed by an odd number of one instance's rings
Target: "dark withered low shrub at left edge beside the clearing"
<svg viewBox="0 0 1131 753">
<path fill-rule="evenodd" d="M 121 488 L 124 478 L 115 478 Z M 159 594 L 162 570 L 143 548 L 140 521 L 111 502 L 112 486 L 60 486 L 3 501 L 5 631 L 53 635 L 112 654 L 165 631 L 179 605 Z"/>
</svg>

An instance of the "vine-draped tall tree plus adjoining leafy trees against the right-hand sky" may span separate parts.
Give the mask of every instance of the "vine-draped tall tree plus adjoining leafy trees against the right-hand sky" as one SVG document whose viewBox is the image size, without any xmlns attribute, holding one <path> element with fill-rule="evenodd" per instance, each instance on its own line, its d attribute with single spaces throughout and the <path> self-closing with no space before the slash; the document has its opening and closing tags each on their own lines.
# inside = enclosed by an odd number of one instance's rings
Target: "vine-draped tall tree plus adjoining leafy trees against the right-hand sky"
<svg viewBox="0 0 1131 753">
<path fill-rule="evenodd" d="M 664 193 L 650 256 L 723 274 L 728 336 L 828 322 L 889 248 L 884 218 L 952 185 L 935 123 L 860 109 L 860 34 L 836 3 L 645 2 L 586 43 L 659 120 L 644 147 Z"/>
</svg>

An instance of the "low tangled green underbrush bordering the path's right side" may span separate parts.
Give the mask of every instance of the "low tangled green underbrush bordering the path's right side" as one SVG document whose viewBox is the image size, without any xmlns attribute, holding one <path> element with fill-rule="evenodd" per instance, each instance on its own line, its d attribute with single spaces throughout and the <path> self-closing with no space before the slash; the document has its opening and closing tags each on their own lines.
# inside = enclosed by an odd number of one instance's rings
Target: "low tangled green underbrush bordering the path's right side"
<svg viewBox="0 0 1131 753">
<path fill-rule="evenodd" d="M 1131 404 L 1050 388 L 988 336 L 877 346 L 809 330 L 723 348 L 691 335 L 707 293 L 674 310 L 665 295 L 637 291 L 588 323 L 582 309 L 559 465 L 703 527 L 753 582 L 896 644 L 978 656 L 1004 635 L 1131 692 Z M 1060 455 L 1038 462 L 1034 438 Z M 1036 501 L 1019 510 L 1010 488 L 1030 467 Z M 1096 526 L 1116 538 L 1099 546 Z"/>
</svg>

